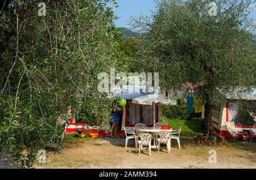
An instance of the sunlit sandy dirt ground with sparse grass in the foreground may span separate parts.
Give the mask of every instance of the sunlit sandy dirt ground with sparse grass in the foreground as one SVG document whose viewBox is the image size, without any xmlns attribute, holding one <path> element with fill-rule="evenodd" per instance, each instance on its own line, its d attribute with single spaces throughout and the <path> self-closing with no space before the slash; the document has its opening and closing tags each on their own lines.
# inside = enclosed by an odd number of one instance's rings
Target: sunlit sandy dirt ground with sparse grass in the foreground
<svg viewBox="0 0 256 180">
<path fill-rule="evenodd" d="M 95 145 L 102 140 L 106 144 Z M 171 153 L 162 147 L 160 153 L 143 148 L 141 156 L 135 153 L 134 140 L 125 139 L 67 139 L 62 154 L 48 153 L 47 164 L 35 164 L 34 168 L 255 168 L 256 144 L 230 142 L 222 146 L 193 144 L 193 137 L 183 136 L 181 149 L 172 142 Z M 209 151 L 217 152 L 217 163 L 209 163 Z"/>
</svg>

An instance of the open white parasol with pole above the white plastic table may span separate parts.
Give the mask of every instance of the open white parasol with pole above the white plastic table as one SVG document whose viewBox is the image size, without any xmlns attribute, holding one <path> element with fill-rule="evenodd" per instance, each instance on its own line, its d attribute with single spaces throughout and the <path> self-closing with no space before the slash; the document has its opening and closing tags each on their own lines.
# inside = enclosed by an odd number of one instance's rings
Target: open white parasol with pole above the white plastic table
<svg viewBox="0 0 256 180">
<path fill-rule="evenodd" d="M 176 100 L 170 100 L 166 97 L 160 96 L 160 95 L 156 95 L 156 94 L 152 94 L 152 95 L 146 95 L 146 96 L 141 96 L 141 97 L 137 97 L 134 98 L 132 101 L 134 104 L 142 104 L 142 105 L 152 105 L 154 110 L 154 125 L 153 127 L 155 128 L 155 104 L 164 104 L 164 105 L 176 105 L 177 101 Z"/>
</svg>

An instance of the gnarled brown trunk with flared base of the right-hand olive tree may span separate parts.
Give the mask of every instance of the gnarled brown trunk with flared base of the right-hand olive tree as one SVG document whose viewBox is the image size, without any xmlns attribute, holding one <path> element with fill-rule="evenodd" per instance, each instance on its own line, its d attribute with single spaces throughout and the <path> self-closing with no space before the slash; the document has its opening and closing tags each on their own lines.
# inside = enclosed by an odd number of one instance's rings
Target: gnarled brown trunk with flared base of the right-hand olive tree
<svg viewBox="0 0 256 180">
<path fill-rule="evenodd" d="M 196 143 L 207 143 L 208 145 L 216 144 L 217 142 L 220 144 L 226 144 L 226 140 L 224 137 L 219 136 L 213 128 L 212 121 L 212 104 L 210 103 L 209 94 L 206 95 L 206 102 L 204 106 L 204 126 L 205 131 L 204 135 L 199 135 L 196 137 Z"/>
</svg>

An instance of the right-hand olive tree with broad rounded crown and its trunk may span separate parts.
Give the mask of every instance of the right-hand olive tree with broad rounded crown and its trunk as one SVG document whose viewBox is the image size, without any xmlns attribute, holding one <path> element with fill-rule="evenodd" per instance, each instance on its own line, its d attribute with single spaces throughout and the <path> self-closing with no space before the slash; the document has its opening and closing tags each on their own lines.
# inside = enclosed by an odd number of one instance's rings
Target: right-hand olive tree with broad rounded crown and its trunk
<svg viewBox="0 0 256 180">
<path fill-rule="evenodd" d="M 131 19 L 139 36 L 138 71 L 159 72 L 162 89 L 204 82 L 198 96 L 205 99 L 205 142 L 213 140 L 210 112 L 215 100 L 238 87 L 249 91 L 256 82 L 256 38 L 251 1 L 217 0 L 217 15 L 209 14 L 210 0 L 157 1 L 150 17 Z M 222 93 L 220 93 L 220 89 Z"/>
</svg>

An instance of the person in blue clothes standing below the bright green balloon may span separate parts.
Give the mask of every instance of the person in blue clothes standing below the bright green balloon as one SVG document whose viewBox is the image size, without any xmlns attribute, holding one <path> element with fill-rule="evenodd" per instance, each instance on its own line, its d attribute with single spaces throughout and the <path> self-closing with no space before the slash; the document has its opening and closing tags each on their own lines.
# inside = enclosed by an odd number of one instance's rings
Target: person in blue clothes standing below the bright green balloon
<svg viewBox="0 0 256 180">
<path fill-rule="evenodd" d="M 111 127 L 111 133 L 110 136 L 113 138 L 113 132 L 114 132 L 114 136 L 118 137 L 117 135 L 117 127 L 120 123 L 120 118 L 121 118 L 121 109 L 119 107 L 113 107 L 111 109 L 111 118 L 112 118 L 112 122 L 113 125 Z"/>
</svg>

